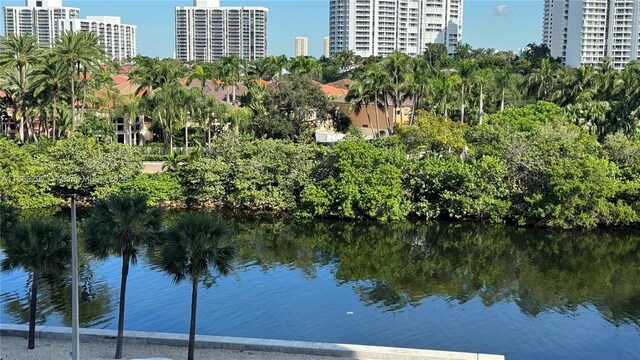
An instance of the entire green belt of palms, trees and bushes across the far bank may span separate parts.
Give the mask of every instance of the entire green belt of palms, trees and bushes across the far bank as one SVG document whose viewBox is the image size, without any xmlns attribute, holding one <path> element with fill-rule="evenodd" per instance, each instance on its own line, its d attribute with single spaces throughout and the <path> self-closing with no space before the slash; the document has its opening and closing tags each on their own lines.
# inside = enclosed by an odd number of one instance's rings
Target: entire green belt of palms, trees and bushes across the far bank
<svg viewBox="0 0 640 360">
<path fill-rule="evenodd" d="M 466 45 L 415 58 L 139 56 L 127 73 L 139 88 L 121 94 L 112 79 L 121 64 L 104 60 L 94 37 L 65 34 L 52 50 L 32 40 L 11 35 L 0 53 L 3 106 L 20 124 L 15 142 L 0 140 L 0 196 L 20 208 L 141 192 L 150 205 L 302 218 L 640 222 L 638 63 L 565 68 L 535 44 L 519 56 Z M 38 77 L 54 70 L 60 81 Z M 353 81 L 352 110 L 389 137 L 364 140 L 338 114 L 317 84 L 340 79 Z M 226 101 L 203 91 L 207 81 Z M 405 102 L 410 117 L 395 127 L 389 111 L 367 106 Z M 124 115 L 152 120 L 155 141 L 116 144 L 112 121 Z M 346 140 L 316 145 L 320 122 Z M 142 174 L 143 159 L 166 172 Z"/>
</svg>

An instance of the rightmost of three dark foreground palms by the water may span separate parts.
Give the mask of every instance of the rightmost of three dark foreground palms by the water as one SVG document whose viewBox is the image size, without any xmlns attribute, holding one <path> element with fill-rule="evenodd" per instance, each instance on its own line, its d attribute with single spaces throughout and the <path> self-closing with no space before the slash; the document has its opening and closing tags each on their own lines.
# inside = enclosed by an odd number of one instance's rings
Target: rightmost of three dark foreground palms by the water
<svg viewBox="0 0 640 360">
<path fill-rule="evenodd" d="M 162 268 L 174 283 L 186 280 L 192 286 L 188 360 L 194 357 L 198 284 L 212 272 L 227 276 L 233 271 L 236 250 L 226 242 L 230 234 L 229 225 L 207 213 L 187 214 L 167 232 Z"/>
</svg>

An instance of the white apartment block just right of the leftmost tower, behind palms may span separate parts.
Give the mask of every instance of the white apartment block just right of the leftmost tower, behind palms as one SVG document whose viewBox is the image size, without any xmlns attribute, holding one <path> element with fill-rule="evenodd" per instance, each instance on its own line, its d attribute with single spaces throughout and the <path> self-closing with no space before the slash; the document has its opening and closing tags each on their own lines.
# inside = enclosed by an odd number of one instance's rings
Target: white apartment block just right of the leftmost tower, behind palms
<svg viewBox="0 0 640 360">
<path fill-rule="evenodd" d="M 137 26 L 122 24 L 119 16 L 87 16 L 86 19 L 58 20 L 58 33 L 85 31 L 98 35 L 100 44 L 111 59 L 126 60 L 137 51 Z"/>
</svg>

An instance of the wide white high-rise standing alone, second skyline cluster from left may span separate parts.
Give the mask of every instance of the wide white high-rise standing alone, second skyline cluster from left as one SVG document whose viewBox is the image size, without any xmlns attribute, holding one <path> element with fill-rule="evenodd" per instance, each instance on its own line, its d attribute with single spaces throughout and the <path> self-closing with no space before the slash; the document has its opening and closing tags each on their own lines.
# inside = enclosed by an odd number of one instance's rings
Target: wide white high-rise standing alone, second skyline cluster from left
<svg viewBox="0 0 640 360">
<path fill-rule="evenodd" d="M 194 0 L 176 8 L 176 58 L 215 61 L 236 54 L 244 60 L 267 56 L 264 7 L 221 7 L 219 0 Z"/>
</svg>

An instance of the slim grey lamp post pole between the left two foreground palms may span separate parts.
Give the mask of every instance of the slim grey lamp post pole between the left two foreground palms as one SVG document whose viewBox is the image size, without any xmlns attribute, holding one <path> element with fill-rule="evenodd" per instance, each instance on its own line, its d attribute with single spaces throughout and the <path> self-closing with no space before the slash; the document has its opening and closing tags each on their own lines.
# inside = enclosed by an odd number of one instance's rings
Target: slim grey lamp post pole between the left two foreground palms
<svg viewBox="0 0 640 360">
<path fill-rule="evenodd" d="M 80 359 L 78 301 L 78 234 L 76 230 L 76 195 L 71 195 L 71 359 Z"/>
</svg>

